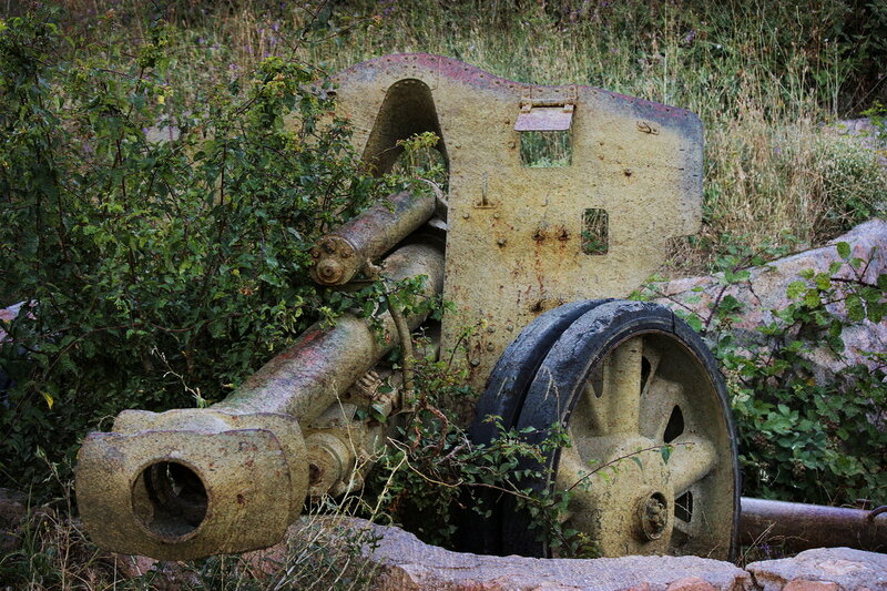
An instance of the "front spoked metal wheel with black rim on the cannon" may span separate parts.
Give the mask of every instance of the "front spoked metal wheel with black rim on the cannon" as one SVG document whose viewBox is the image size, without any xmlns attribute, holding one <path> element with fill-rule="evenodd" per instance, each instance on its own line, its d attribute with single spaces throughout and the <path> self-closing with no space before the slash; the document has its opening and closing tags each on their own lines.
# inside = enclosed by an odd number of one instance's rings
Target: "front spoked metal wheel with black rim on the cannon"
<svg viewBox="0 0 887 591">
<path fill-rule="evenodd" d="M 536 490 L 570 491 L 565 528 L 609 557 L 731 557 L 738 470 L 730 407 L 711 353 L 669 309 L 609 302 L 572 322 L 513 426 L 534 427 L 529 438 L 539 442 L 552 425 L 567 428 L 571 447 L 526 467 L 547 475 Z M 529 516 L 500 523 L 502 552 L 551 554 Z"/>
</svg>

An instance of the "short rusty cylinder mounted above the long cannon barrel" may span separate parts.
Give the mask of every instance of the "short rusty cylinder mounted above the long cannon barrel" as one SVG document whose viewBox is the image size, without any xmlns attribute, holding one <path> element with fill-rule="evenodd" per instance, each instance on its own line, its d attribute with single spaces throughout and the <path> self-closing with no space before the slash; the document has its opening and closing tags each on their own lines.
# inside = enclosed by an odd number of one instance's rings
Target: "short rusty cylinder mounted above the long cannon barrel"
<svg viewBox="0 0 887 591">
<path fill-rule="evenodd" d="M 312 277 L 322 285 L 348 283 L 366 265 L 390 251 L 435 213 L 434 195 L 389 196 L 317 241 Z"/>
</svg>

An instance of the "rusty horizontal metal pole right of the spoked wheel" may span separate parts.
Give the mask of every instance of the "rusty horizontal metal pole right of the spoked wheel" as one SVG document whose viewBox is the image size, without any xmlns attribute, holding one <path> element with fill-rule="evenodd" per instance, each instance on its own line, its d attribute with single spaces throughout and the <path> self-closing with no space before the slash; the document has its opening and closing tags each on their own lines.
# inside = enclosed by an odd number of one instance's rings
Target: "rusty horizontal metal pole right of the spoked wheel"
<svg viewBox="0 0 887 591">
<path fill-rule="evenodd" d="M 887 513 L 743 497 L 740 540 L 793 551 L 846 546 L 887 552 Z"/>
</svg>

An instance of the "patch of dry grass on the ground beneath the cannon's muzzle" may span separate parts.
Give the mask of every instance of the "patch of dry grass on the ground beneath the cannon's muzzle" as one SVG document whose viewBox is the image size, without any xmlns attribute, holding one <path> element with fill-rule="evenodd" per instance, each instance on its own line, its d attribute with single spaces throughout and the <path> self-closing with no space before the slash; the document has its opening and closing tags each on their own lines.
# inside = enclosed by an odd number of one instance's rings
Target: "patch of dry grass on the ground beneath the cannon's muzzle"
<svg viewBox="0 0 887 591">
<path fill-rule="evenodd" d="M 18 530 L 19 548 L 0 557 L 0 590 L 360 591 L 379 568 L 365 554 L 376 542 L 373 531 L 355 531 L 336 517 L 304 517 L 267 550 L 157 562 L 101 550 L 79 520 L 60 517 L 71 514 L 70 497 L 60 502 L 67 507 L 33 511 Z"/>
</svg>

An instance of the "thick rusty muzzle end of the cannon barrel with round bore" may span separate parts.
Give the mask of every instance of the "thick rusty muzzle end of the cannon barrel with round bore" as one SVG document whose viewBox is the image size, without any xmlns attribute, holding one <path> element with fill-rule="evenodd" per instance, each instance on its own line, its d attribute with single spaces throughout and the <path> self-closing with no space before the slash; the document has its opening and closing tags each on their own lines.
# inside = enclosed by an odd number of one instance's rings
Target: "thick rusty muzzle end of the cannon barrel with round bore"
<svg viewBox="0 0 887 591">
<path fill-rule="evenodd" d="M 109 550 L 161 560 L 276 543 L 307 492 L 304 441 L 290 427 L 286 444 L 254 427 L 90 434 L 75 476 L 86 531 Z"/>
</svg>

